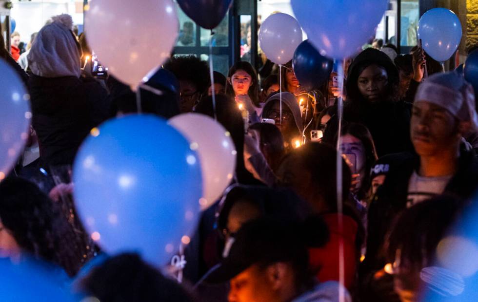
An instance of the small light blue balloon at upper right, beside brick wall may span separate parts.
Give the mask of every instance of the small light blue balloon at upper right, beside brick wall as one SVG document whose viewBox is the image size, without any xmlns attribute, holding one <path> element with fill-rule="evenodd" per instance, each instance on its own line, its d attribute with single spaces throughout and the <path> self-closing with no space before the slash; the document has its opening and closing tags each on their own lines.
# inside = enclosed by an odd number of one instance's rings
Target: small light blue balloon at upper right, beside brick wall
<svg viewBox="0 0 478 302">
<path fill-rule="evenodd" d="M 461 41 L 461 23 L 457 15 L 446 8 L 433 8 L 418 21 L 418 38 L 423 49 L 438 62 L 448 60 Z"/>
</svg>

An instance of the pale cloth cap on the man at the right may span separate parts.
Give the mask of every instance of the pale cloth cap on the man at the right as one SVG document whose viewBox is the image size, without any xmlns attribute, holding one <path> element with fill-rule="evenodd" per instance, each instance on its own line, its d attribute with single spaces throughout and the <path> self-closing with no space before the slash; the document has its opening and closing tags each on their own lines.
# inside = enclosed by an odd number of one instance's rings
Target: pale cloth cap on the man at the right
<svg viewBox="0 0 478 302">
<path fill-rule="evenodd" d="M 415 103 L 429 102 L 440 106 L 460 121 L 470 121 L 478 129 L 473 87 L 455 72 L 428 77 L 418 86 Z"/>
</svg>

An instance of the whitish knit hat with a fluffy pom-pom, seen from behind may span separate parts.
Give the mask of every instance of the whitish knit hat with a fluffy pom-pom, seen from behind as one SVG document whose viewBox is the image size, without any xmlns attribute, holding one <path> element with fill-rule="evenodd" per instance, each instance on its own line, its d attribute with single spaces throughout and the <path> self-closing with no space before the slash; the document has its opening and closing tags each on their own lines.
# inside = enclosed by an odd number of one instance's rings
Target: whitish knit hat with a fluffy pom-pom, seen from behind
<svg viewBox="0 0 478 302">
<path fill-rule="evenodd" d="M 80 51 L 72 26 L 73 20 L 66 14 L 53 17 L 51 23 L 43 26 L 28 54 L 28 65 L 34 75 L 80 77 Z"/>
</svg>

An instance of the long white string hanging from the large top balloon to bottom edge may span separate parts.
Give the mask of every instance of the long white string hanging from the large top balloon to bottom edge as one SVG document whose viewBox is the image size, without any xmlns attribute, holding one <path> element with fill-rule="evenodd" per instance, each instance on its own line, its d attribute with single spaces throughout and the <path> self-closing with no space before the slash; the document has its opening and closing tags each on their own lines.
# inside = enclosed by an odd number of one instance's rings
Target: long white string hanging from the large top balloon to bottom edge
<svg viewBox="0 0 478 302">
<path fill-rule="evenodd" d="M 342 141 L 342 113 L 343 113 L 343 64 L 344 61 L 335 60 L 339 77 L 339 91 L 340 96 L 337 103 L 337 118 L 339 120 L 339 129 L 337 132 L 337 212 L 339 223 L 339 234 L 343 234 L 343 200 L 342 200 L 342 151 L 340 149 Z M 345 301 L 345 270 L 344 270 L 344 252 L 343 252 L 343 238 L 339 238 L 339 283 L 342 285 L 339 287 L 339 301 Z"/>
</svg>

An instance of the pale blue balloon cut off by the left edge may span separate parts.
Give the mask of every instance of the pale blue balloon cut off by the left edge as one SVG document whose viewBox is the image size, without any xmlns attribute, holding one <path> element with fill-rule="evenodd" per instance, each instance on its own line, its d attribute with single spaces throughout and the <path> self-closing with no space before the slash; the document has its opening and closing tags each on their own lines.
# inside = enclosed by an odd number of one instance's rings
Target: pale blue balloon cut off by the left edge
<svg viewBox="0 0 478 302">
<path fill-rule="evenodd" d="M 20 77 L 0 60 L 0 181 L 12 170 L 30 136 L 30 95 Z"/>
</svg>

